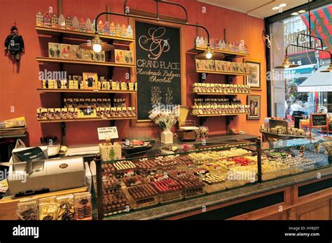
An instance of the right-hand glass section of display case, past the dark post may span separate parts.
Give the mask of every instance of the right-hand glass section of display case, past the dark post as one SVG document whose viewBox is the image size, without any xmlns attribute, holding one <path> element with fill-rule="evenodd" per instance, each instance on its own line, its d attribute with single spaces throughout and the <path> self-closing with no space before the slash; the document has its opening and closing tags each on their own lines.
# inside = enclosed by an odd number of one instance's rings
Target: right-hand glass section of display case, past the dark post
<svg viewBox="0 0 332 243">
<path fill-rule="evenodd" d="M 263 181 L 331 167 L 332 141 L 317 137 L 263 142 L 261 163 Z"/>
</svg>

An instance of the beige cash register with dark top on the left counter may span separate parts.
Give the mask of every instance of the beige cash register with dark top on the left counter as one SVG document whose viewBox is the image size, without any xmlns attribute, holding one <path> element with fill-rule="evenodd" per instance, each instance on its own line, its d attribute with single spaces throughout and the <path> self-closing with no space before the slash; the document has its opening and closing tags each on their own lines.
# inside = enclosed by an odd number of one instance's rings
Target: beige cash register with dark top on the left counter
<svg viewBox="0 0 332 243">
<path fill-rule="evenodd" d="M 48 158 L 48 146 L 12 151 L 9 195 L 29 195 L 85 186 L 82 156 Z"/>
</svg>

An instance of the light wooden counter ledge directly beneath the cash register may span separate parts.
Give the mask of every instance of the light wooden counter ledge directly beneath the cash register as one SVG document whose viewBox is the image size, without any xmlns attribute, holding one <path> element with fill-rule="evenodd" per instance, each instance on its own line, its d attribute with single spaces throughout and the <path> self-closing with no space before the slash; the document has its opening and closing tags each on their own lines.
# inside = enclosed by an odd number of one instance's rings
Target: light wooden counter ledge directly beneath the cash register
<svg viewBox="0 0 332 243">
<path fill-rule="evenodd" d="M 60 190 L 53 193 L 43 193 L 39 195 L 27 196 L 27 197 L 18 197 L 18 198 L 5 198 L 0 200 L 0 220 L 16 220 L 18 217 L 16 216 L 16 210 L 18 209 L 18 202 L 20 200 L 27 199 L 39 199 L 42 197 L 52 197 L 52 196 L 60 196 L 74 193 L 84 193 L 87 190 L 86 187 L 82 188 L 74 188 L 69 190 Z M 92 219 L 92 218 L 91 218 Z"/>
</svg>

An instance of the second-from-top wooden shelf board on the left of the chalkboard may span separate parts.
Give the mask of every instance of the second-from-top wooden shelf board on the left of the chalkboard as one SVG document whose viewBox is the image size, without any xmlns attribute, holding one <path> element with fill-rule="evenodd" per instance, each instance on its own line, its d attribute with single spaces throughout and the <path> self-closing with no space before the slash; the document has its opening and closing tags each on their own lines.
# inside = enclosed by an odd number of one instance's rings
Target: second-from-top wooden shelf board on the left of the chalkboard
<svg viewBox="0 0 332 243">
<path fill-rule="evenodd" d="M 57 62 L 57 63 L 68 63 L 68 64 L 83 64 L 83 65 L 96 65 L 96 66 L 105 66 L 105 67 L 135 67 L 134 64 L 120 64 L 115 62 L 90 62 L 83 60 L 69 60 L 69 59 L 60 59 L 52 57 L 36 57 L 38 62 Z"/>
</svg>

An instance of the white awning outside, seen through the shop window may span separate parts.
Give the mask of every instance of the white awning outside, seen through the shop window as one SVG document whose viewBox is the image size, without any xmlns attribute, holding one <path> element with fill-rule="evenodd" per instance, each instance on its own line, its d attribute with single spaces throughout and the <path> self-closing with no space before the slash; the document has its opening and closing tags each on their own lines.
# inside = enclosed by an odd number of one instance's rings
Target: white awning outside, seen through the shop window
<svg viewBox="0 0 332 243">
<path fill-rule="evenodd" d="M 332 73 L 321 73 L 328 65 L 321 66 L 298 86 L 298 92 L 332 92 Z"/>
</svg>

